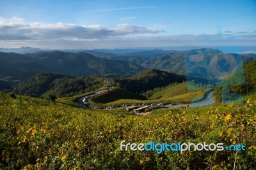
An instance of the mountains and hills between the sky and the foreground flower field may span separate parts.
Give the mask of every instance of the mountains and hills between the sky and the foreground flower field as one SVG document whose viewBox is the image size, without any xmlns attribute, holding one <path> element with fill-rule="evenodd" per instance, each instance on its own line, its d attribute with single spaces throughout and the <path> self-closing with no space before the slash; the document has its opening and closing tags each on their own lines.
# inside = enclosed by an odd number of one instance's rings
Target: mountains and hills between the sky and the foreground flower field
<svg viewBox="0 0 256 170">
<path fill-rule="evenodd" d="M 0 89 L 34 97 L 55 96 L 61 101 L 61 98 L 104 90 L 109 84 L 114 90 L 88 99 L 90 105 L 104 108 L 143 103 L 189 104 L 200 101 L 209 89 L 220 84 L 220 80 L 214 79 L 209 73 L 207 65 L 218 53 L 226 55 L 211 48 L 185 51 L 87 50 L 72 53 L 54 50 L 24 54 L 0 53 L 3 66 L 0 70 Z M 252 69 L 249 65 L 256 59 L 255 54 L 227 55 L 233 56 L 239 67 L 244 64 L 248 69 Z M 200 62 L 200 66 L 194 64 L 188 69 L 188 64 L 184 63 L 188 56 L 204 56 L 204 61 Z M 247 67 L 244 72 L 245 81 L 254 82 L 252 77 L 248 78 Z M 207 74 L 210 76 L 205 76 Z M 237 78 L 233 79 L 237 81 Z M 239 81 L 243 83 L 244 80 Z M 236 85 L 230 88 L 237 94 L 241 94 L 244 89 Z M 246 88 L 252 90 L 254 85 L 251 83 Z"/>
</svg>

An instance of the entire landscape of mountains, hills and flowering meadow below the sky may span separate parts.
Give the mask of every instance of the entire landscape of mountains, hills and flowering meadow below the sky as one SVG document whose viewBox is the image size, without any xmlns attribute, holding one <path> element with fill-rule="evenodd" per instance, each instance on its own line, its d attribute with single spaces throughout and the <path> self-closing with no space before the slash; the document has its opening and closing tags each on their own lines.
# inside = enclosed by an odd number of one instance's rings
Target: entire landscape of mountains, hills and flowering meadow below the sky
<svg viewBox="0 0 256 170">
<path fill-rule="evenodd" d="M 225 54 L 209 48 L 87 52 L 0 53 L 0 168 L 230 168 L 237 155 L 243 169 L 255 166 L 254 54 L 228 55 L 237 69 L 218 76 L 209 61 Z M 124 140 L 242 143 L 248 152 L 124 152 Z"/>
</svg>

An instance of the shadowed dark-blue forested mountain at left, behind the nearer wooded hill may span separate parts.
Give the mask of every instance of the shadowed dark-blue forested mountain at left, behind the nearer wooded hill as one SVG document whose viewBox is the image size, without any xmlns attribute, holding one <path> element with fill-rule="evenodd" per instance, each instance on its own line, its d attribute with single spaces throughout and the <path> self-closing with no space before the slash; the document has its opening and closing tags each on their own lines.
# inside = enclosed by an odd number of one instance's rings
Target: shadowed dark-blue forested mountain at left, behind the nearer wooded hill
<svg viewBox="0 0 256 170">
<path fill-rule="evenodd" d="M 60 51 L 21 55 L 0 52 L 0 78 L 26 80 L 36 73 L 57 73 L 68 76 L 132 75 L 143 67 L 125 60 L 110 60 L 89 53 Z"/>
</svg>

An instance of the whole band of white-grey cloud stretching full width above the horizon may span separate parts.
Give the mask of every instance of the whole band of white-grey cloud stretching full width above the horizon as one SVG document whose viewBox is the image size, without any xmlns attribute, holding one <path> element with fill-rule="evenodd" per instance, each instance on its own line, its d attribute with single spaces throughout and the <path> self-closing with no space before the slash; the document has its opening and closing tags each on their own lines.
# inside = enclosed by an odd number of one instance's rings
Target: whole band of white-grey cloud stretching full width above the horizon
<svg viewBox="0 0 256 170">
<path fill-rule="evenodd" d="M 186 45 L 255 45 L 256 34 L 159 34 L 163 30 L 149 29 L 138 25 L 119 24 L 76 25 L 26 23 L 22 18 L 9 20 L 0 18 L 0 47 L 35 46 L 38 48 L 125 48 L 143 46 L 186 46 Z M 236 34 L 234 34 L 236 35 Z"/>
</svg>

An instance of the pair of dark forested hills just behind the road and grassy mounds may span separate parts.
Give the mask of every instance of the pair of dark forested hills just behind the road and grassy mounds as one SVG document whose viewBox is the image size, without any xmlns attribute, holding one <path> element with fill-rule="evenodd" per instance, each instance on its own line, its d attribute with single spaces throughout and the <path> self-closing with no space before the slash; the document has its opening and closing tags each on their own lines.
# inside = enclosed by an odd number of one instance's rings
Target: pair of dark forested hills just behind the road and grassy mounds
<svg viewBox="0 0 256 170">
<path fill-rule="evenodd" d="M 136 94 L 141 94 L 149 89 L 163 87 L 174 82 L 185 81 L 184 76 L 156 69 L 141 71 L 129 78 L 108 79 L 101 76 L 71 77 L 63 74 L 40 73 L 22 81 L 13 90 L 16 94 L 29 96 L 45 96 L 52 94 L 56 97 L 74 96 L 97 90 L 106 83 L 122 87 Z"/>
</svg>

